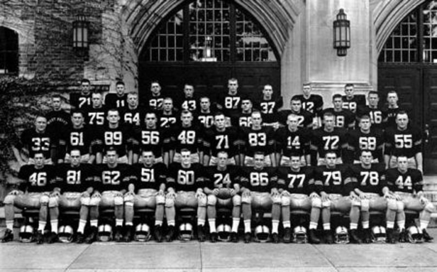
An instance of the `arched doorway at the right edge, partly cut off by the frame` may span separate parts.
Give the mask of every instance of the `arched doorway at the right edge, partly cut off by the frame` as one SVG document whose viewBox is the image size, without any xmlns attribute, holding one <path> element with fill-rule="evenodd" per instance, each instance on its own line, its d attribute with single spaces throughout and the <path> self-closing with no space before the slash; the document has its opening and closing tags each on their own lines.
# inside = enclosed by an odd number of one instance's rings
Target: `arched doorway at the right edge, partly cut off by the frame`
<svg viewBox="0 0 437 272">
<path fill-rule="evenodd" d="M 437 0 L 420 4 L 387 38 L 378 59 L 378 90 L 384 101 L 388 91 L 397 91 L 401 106 L 429 134 L 424 171 L 437 173 Z"/>
</svg>

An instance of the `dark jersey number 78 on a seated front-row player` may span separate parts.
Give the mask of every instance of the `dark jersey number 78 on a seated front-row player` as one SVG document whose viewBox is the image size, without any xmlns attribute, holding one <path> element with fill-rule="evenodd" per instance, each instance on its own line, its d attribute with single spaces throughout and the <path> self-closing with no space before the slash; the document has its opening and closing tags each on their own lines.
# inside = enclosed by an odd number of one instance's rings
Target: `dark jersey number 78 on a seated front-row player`
<svg viewBox="0 0 437 272">
<path fill-rule="evenodd" d="M 384 164 L 372 164 L 370 169 L 361 164 L 351 165 L 351 175 L 356 180 L 356 188 L 365 193 L 382 195 L 382 189 L 387 186 L 386 167 Z"/>
</svg>

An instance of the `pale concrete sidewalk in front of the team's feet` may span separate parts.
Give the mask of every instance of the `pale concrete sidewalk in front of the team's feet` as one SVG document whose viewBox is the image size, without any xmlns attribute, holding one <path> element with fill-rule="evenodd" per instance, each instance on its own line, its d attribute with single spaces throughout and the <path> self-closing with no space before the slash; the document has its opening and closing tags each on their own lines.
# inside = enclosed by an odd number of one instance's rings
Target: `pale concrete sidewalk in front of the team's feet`
<svg viewBox="0 0 437 272">
<path fill-rule="evenodd" d="M 2 231 L 0 232 L 2 234 Z M 437 238 L 437 229 L 430 234 Z M 435 272 L 437 242 L 311 245 L 98 242 L 0 244 L 0 271 Z"/>
</svg>

